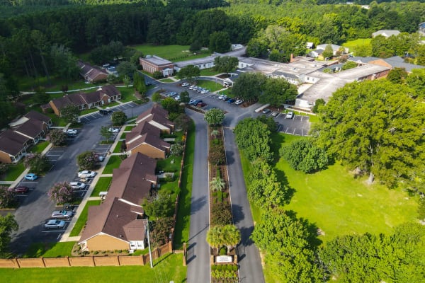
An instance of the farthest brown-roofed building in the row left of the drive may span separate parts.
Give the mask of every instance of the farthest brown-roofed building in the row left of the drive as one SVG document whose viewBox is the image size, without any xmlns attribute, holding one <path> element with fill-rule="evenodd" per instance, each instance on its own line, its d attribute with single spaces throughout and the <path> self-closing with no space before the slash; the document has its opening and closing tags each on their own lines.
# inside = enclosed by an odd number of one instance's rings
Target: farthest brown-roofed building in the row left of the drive
<svg viewBox="0 0 425 283">
<path fill-rule="evenodd" d="M 168 111 L 158 104 L 137 116 L 136 124 L 138 125 L 141 122 L 148 122 L 167 134 L 174 131 L 174 122 L 168 120 Z"/>
</svg>

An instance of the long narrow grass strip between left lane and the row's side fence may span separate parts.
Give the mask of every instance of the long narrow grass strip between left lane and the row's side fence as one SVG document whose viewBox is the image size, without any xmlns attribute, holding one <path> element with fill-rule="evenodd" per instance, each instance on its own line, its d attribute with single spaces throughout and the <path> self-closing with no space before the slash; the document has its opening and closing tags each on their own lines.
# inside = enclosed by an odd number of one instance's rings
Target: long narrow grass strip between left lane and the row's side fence
<svg viewBox="0 0 425 283">
<path fill-rule="evenodd" d="M 186 139 L 186 154 L 184 157 L 183 173 L 181 174 L 181 192 L 177 211 L 176 232 L 174 233 L 174 249 L 176 250 L 181 249 L 183 243 L 189 241 L 194 151 L 195 124 L 191 121 Z"/>
</svg>

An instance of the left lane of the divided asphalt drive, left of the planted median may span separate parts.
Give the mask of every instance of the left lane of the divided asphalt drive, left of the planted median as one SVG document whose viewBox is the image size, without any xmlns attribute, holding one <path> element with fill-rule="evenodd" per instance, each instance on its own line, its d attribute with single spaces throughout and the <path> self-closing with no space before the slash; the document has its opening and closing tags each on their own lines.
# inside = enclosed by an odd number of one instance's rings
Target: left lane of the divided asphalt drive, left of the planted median
<svg viewBox="0 0 425 283">
<path fill-rule="evenodd" d="M 208 200 L 208 128 L 203 115 L 186 110 L 196 127 L 191 197 L 191 227 L 187 253 L 188 283 L 210 282 L 210 248 L 205 241 L 210 226 Z"/>
</svg>

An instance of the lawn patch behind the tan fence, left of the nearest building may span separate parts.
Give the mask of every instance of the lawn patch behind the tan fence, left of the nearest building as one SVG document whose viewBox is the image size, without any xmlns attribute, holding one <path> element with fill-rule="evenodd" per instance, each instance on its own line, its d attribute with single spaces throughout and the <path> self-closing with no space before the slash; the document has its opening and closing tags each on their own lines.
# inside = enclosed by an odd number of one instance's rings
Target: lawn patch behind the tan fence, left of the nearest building
<svg viewBox="0 0 425 283">
<path fill-rule="evenodd" d="M 72 256 L 72 247 L 77 242 L 34 243 L 28 248 L 23 258 L 56 258 Z"/>
</svg>

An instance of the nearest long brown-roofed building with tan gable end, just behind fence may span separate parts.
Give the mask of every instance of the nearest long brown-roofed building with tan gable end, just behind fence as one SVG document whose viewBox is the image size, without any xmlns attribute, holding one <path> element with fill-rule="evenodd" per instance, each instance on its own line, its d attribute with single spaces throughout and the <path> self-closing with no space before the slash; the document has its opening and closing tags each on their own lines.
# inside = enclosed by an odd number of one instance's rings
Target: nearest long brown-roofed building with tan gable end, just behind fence
<svg viewBox="0 0 425 283">
<path fill-rule="evenodd" d="M 82 250 L 142 250 L 146 225 L 142 200 L 157 185 L 157 161 L 134 154 L 113 170 L 106 200 L 89 207 L 79 245 Z"/>
</svg>

